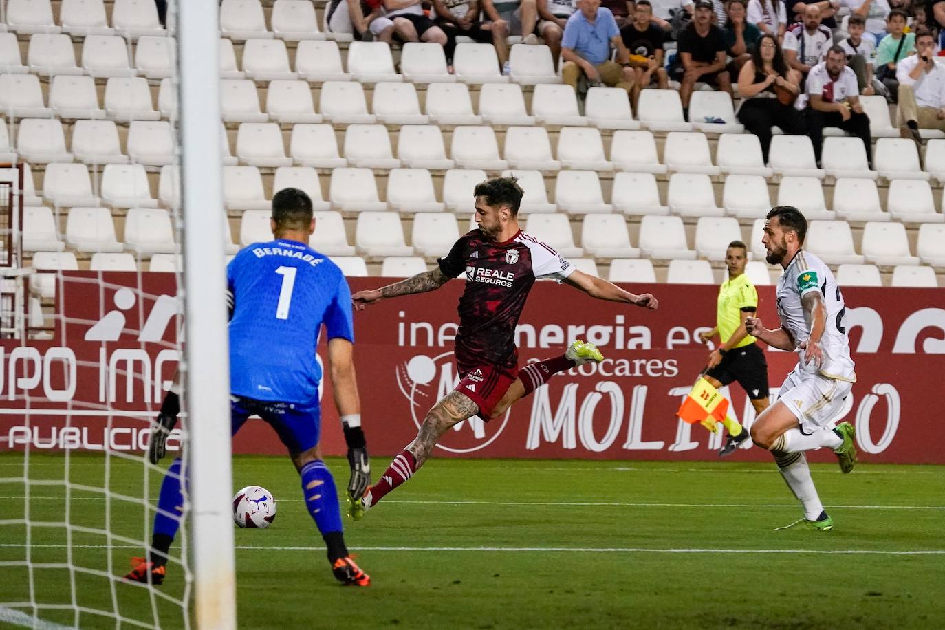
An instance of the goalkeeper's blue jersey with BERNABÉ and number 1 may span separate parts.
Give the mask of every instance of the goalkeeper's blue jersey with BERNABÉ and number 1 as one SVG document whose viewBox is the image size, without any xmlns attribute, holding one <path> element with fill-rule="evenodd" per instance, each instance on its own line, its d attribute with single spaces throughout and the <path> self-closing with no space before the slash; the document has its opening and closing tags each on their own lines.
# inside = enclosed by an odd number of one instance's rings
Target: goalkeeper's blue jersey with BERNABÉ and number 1
<svg viewBox="0 0 945 630">
<path fill-rule="evenodd" d="M 296 241 L 254 243 L 227 266 L 230 389 L 254 400 L 318 402 L 318 334 L 354 341 L 351 290 L 327 256 Z"/>
</svg>

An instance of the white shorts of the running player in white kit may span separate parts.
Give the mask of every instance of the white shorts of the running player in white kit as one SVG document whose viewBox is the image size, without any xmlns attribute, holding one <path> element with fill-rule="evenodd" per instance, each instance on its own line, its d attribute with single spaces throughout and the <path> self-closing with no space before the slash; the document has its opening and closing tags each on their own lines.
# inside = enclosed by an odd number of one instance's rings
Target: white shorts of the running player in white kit
<svg viewBox="0 0 945 630">
<path fill-rule="evenodd" d="M 781 386 L 778 400 L 798 418 L 800 429 L 812 434 L 820 429 L 833 428 L 843 409 L 843 401 L 850 395 L 853 383 L 828 379 L 819 374 L 800 374 L 795 368 Z"/>
</svg>

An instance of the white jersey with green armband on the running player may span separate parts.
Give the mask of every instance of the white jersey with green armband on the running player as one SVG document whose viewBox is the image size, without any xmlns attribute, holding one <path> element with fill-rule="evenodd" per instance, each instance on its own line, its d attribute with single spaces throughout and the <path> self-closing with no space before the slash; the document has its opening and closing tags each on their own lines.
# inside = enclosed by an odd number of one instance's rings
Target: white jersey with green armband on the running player
<svg viewBox="0 0 945 630">
<path fill-rule="evenodd" d="M 827 322 L 820 337 L 820 350 L 823 353 L 823 365 L 818 370 L 811 362 L 806 364 L 804 350 L 800 351 L 800 360 L 795 371 L 803 375 L 820 375 L 830 379 L 856 383 L 853 360 L 850 356 L 850 341 L 843 326 L 846 307 L 840 287 L 833 278 L 830 267 L 810 252 L 800 250 L 784 269 L 784 275 L 778 281 L 778 316 L 781 325 L 797 344 L 807 341 L 811 336 L 809 315 L 804 311 L 800 298 L 819 292 L 827 307 Z"/>
</svg>

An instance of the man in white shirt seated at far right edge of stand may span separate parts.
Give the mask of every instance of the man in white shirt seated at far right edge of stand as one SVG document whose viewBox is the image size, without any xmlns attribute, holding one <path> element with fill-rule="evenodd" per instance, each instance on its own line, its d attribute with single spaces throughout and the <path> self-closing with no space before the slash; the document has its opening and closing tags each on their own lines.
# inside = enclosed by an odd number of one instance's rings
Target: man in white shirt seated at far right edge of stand
<svg viewBox="0 0 945 630">
<path fill-rule="evenodd" d="M 917 54 L 899 62 L 899 121 L 903 138 L 918 144 L 919 129 L 945 131 L 945 69 L 936 63 L 936 38 L 916 33 Z"/>
</svg>

